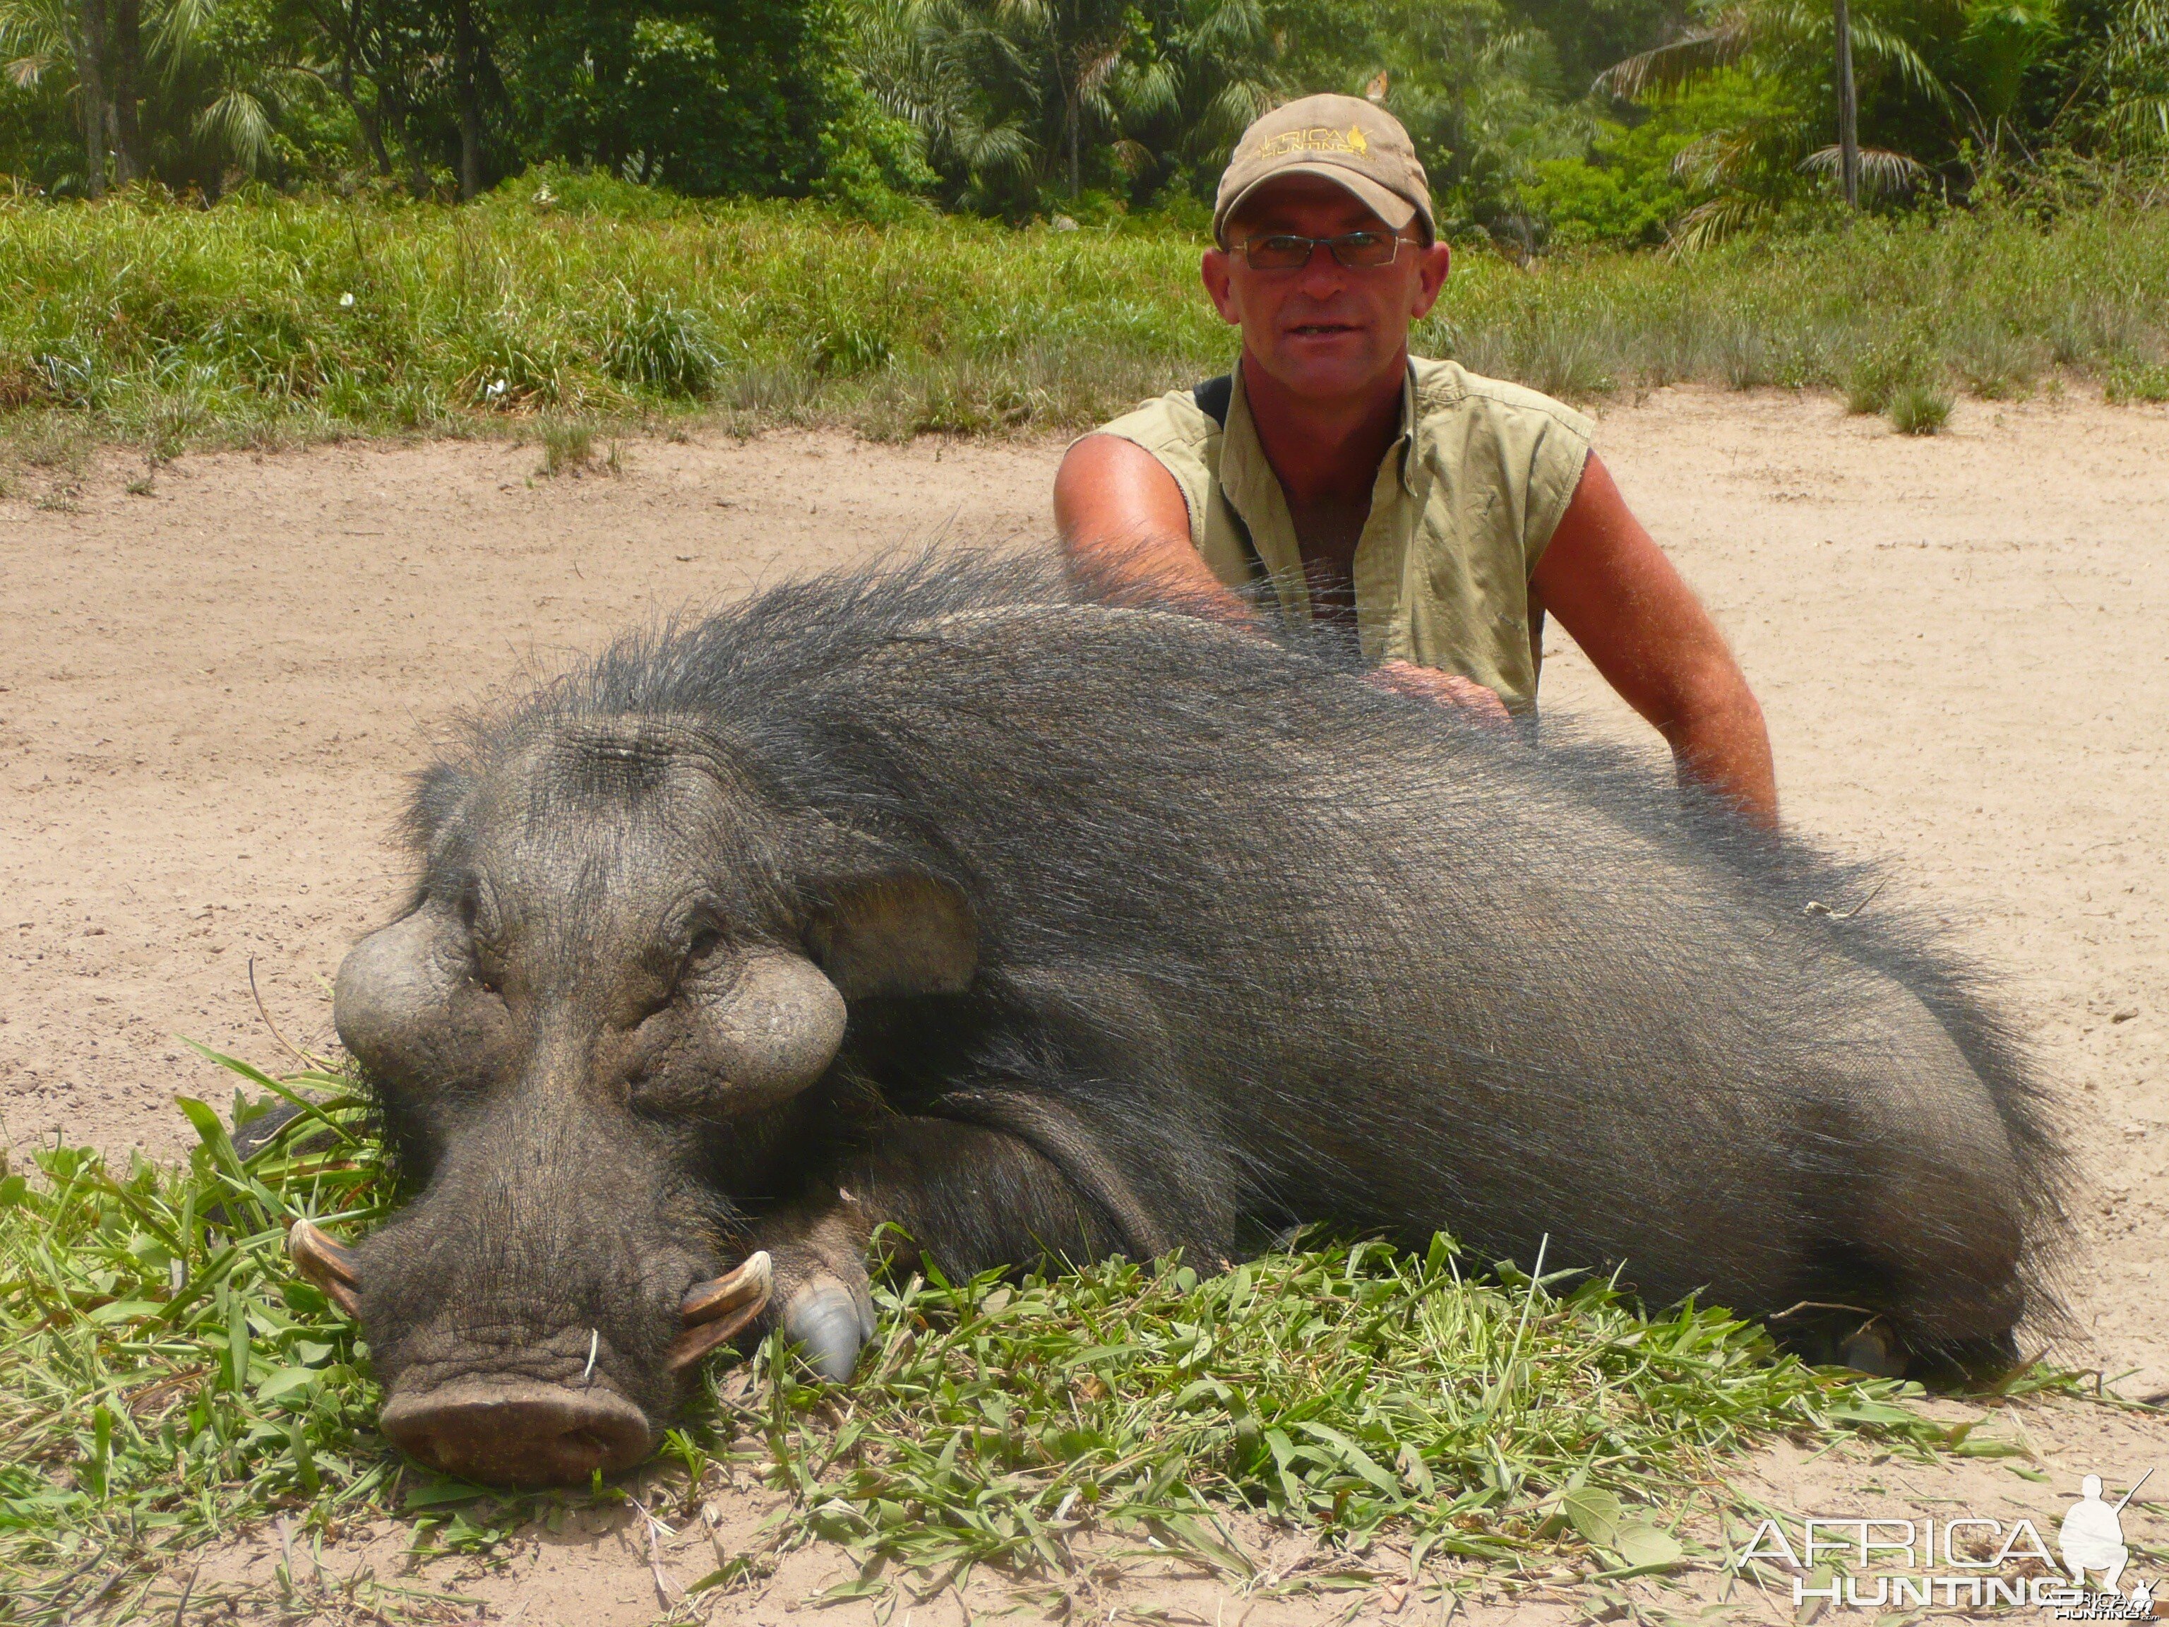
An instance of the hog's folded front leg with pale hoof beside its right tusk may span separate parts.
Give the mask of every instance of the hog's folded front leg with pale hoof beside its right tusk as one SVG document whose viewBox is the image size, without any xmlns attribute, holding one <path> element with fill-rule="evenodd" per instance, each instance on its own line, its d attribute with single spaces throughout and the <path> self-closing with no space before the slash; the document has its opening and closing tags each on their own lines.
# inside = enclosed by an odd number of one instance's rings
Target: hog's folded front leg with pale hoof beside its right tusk
<svg viewBox="0 0 2169 1627">
<path fill-rule="evenodd" d="M 850 1378 L 874 1336 L 865 1256 L 885 1224 L 902 1232 L 889 1243 L 894 1265 L 933 1260 L 950 1278 L 1124 1250 L 1115 1219 L 1024 1139 L 952 1119 L 889 1119 L 757 1234 L 774 1263 L 772 1315 L 831 1382 Z"/>
</svg>

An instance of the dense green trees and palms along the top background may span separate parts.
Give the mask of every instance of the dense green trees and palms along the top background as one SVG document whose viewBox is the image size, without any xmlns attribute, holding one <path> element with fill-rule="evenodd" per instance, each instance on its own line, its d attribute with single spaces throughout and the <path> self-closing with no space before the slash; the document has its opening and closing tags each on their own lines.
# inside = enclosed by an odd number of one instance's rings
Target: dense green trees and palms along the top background
<svg viewBox="0 0 2169 1627">
<path fill-rule="evenodd" d="M 1852 0 L 1863 202 L 2169 156 L 2169 0 Z M 0 176 L 48 195 L 685 195 L 1195 223 L 1234 134 L 1369 93 L 1516 254 L 1833 193 L 1833 0 L 0 0 Z"/>
</svg>

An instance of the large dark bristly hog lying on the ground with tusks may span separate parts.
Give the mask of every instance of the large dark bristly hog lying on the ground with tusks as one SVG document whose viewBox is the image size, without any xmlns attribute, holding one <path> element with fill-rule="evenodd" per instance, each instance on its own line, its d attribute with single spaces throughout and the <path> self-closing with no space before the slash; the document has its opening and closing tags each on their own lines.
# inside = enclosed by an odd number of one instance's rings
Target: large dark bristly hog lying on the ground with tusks
<svg viewBox="0 0 2169 1627">
<path fill-rule="evenodd" d="M 1930 933 L 1846 915 L 1859 872 L 1050 568 L 623 640 L 410 827 L 334 1015 L 416 1195 L 295 1252 L 462 1475 L 640 1460 L 748 1325 L 848 1378 L 885 1221 L 952 1276 L 1549 1237 L 1887 1371 L 2043 1306 L 2041 1089 Z"/>
</svg>

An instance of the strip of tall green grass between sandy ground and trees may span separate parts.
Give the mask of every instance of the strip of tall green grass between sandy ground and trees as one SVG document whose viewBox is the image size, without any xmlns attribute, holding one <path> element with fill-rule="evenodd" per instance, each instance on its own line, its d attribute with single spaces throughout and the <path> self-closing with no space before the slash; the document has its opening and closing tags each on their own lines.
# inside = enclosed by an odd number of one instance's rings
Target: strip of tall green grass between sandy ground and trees
<svg viewBox="0 0 2169 1627">
<path fill-rule="evenodd" d="M 1232 356 L 1202 245 L 1173 230 L 874 230 L 787 204 L 581 215 L 531 193 L 0 200 L 0 434 L 163 458 L 538 414 L 1076 430 Z M 1991 397 L 2063 371 L 2152 399 L 2169 210 L 1863 219 L 1529 271 L 1468 249 L 1416 345 L 1579 399 L 1679 380 L 1854 393 L 1863 358 Z"/>
</svg>

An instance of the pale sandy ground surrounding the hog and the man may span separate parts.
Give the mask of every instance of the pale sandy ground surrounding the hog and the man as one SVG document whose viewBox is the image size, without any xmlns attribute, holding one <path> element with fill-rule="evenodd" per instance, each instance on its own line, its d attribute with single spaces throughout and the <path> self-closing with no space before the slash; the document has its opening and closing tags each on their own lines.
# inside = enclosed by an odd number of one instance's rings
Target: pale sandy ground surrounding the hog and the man
<svg viewBox="0 0 2169 1627">
<path fill-rule="evenodd" d="M 1950 434 L 1907 440 L 1828 399 L 1668 390 L 1614 406 L 1599 447 L 1733 636 L 1787 818 L 1898 859 L 1898 885 L 2011 972 L 2084 1158 L 2084 1336 L 2061 1356 L 2123 1395 L 2169 1391 L 2169 412 L 1965 403 Z M 1039 538 L 1056 458 L 794 434 L 640 443 L 623 475 L 579 479 L 538 479 L 536 449 L 503 443 L 191 458 L 150 495 L 124 490 L 139 471 L 121 464 L 17 471 L 0 501 L 7 1139 L 178 1150 L 174 1093 L 223 1093 L 178 1035 L 278 1054 L 249 961 L 278 1024 L 328 1043 L 328 978 L 401 889 L 403 774 L 455 709 L 759 581 Z M 1655 748 L 1570 644 L 1544 705 Z M 2006 1421 L 2050 1484 L 1995 1462 L 1907 1479 L 1846 1453 L 1750 1473 L 1794 1508 L 2017 1499 L 2054 1516 L 2078 1473 L 2169 1466 L 2158 1419 L 2056 1404 Z M 2169 1542 L 2145 1519 L 2134 1536 Z M 679 1540 L 709 1536 L 694 1521 Z M 364 1555 L 325 1562 L 347 1575 Z M 230 1579 L 252 1564 L 262 1547 Z M 766 1620 L 833 1568 L 805 1555 L 729 1610 Z M 623 1529 L 538 1540 L 462 1586 L 527 1620 L 657 1607 Z M 1154 1586 L 1202 1620 L 1282 1610 Z"/>
</svg>

